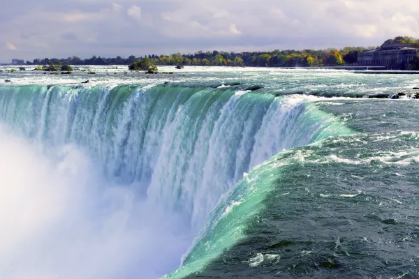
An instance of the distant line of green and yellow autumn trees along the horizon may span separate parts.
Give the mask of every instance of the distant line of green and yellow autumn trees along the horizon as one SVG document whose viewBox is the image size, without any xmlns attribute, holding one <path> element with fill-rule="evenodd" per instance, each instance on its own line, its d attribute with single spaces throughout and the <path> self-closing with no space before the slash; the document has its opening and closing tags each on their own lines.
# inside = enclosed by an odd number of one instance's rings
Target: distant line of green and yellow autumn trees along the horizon
<svg viewBox="0 0 419 279">
<path fill-rule="evenodd" d="M 386 40 L 385 43 L 412 43 L 419 45 L 419 40 L 411 37 L 396 37 Z M 358 52 L 372 50 L 376 47 L 344 47 L 341 50 L 274 50 L 270 52 L 196 52 L 195 54 L 150 54 L 146 57 L 152 59 L 156 66 L 253 66 L 253 67 L 322 67 L 351 65 L 358 61 Z M 117 56 L 105 58 L 92 56 L 90 59 L 80 59 L 78 56 L 67 59 L 34 59 L 27 61 L 28 65 L 44 65 L 52 61 L 68 65 L 131 65 L 144 57 L 129 56 L 127 59 Z"/>
</svg>

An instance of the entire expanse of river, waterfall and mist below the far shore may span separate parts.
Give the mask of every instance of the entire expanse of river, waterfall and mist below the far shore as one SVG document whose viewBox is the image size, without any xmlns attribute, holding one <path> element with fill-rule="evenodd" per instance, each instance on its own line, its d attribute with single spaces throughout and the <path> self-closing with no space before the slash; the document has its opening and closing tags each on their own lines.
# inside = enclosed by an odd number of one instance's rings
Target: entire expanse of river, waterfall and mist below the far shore
<svg viewBox="0 0 419 279">
<path fill-rule="evenodd" d="M 415 75 L 94 70 L 0 73 L 3 277 L 419 276 Z"/>
</svg>

